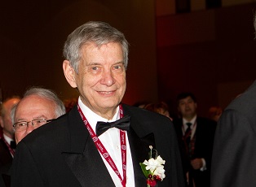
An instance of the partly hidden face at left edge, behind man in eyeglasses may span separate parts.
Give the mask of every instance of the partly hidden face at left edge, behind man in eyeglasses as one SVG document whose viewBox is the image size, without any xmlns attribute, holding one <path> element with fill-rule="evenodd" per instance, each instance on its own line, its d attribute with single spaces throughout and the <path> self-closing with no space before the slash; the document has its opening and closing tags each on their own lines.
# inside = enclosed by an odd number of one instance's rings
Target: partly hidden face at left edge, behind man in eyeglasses
<svg viewBox="0 0 256 187">
<path fill-rule="evenodd" d="M 7 137 L 10 138 L 13 138 L 14 136 L 14 130 L 11 123 L 11 108 L 18 102 L 20 102 L 19 98 L 11 98 L 10 100 L 7 100 L 7 102 L 4 102 L 2 104 L 4 114 L 0 117 L 0 123 L 3 133 L 5 133 Z"/>
</svg>

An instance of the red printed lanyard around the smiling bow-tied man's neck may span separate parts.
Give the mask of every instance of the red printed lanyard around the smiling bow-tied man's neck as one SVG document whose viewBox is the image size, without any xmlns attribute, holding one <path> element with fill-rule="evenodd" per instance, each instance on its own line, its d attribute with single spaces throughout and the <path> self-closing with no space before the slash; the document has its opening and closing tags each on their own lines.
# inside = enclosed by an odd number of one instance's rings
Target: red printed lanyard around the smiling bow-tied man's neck
<svg viewBox="0 0 256 187">
<path fill-rule="evenodd" d="M 121 105 L 119 106 L 119 109 L 120 109 L 120 118 L 122 118 L 124 114 L 123 114 Z M 108 151 L 105 149 L 102 142 L 96 136 L 94 130 L 91 128 L 88 120 L 86 120 L 86 116 L 82 113 L 82 110 L 78 104 L 77 104 L 77 110 L 81 115 L 83 123 L 85 124 L 88 132 L 90 133 L 91 139 L 95 142 L 95 146 L 97 150 L 99 150 L 99 153 L 102 154 L 104 159 L 108 162 L 109 166 L 112 167 L 113 171 L 117 174 L 118 178 L 121 181 L 121 185 L 125 187 L 126 186 L 126 131 L 120 130 L 121 161 L 122 161 L 122 172 L 123 172 L 123 178 L 121 179 L 121 174 L 118 171 L 116 164 L 113 162 L 113 159 L 108 154 Z"/>
</svg>

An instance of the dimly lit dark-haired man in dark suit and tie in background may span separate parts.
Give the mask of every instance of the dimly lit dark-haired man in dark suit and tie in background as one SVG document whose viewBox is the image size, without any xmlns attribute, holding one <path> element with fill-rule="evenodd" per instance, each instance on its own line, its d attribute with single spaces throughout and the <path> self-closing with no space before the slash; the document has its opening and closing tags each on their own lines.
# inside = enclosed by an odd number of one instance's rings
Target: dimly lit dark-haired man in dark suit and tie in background
<svg viewBox="0 0 256 187">
<path fill-rule="evenodd" d="M 177 104 L 181 118 L 174 120 L 174 125 L 188 186 L 209 187 L 216 123 L 197 116 L 197 102 L 193 93 L 180 93 Z"/>
</svg>

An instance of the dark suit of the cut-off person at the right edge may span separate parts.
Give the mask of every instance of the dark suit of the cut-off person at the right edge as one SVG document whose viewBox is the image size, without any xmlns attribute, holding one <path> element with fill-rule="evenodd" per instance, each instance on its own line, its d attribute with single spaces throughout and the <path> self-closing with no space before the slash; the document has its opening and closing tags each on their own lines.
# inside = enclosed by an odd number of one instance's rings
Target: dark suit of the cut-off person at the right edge
<svg viewBox="0 0 256 187">
<path fill-rule="evenodd" d="M 256 81 L 223 111 L 214 139 L 212 187 L 256 186 Z"/>
</svg>

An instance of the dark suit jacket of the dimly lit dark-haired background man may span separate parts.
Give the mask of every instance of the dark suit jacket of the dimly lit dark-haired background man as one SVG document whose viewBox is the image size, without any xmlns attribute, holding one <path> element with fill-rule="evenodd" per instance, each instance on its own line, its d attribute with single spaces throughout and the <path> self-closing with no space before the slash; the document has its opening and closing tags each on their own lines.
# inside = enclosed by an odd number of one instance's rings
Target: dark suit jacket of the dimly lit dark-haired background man
<svg viewBox="0 0 256 187">
<path fill-rule="evenodd" d="M 213 120 L 208 120 L 206 118 L 197 117 L 196 118 L 196 132 L 194 134 L 195 138 L 195 148 L 192 159 L 203 158 L 206 163 L 206 170 L 194 170 L 190 164 L 189 156 L 186 154 L 185 145 L 183 141 L 182 132 L 183 120 L 174 120 L 174 127 L 179 137 L 179 147 L 182 154 L 183 160 L 183 171 L 186 173 L 191 172 L 193 180 L 195 181 L 196 187 L 209 187 L 210 186 L 210 167 L 211 167 L 211 156 L 214 144 L 214 132 L 216 128 L 216 123 Z M 184 175 L 185 175 L 184 173 Z"/>
</svg>

